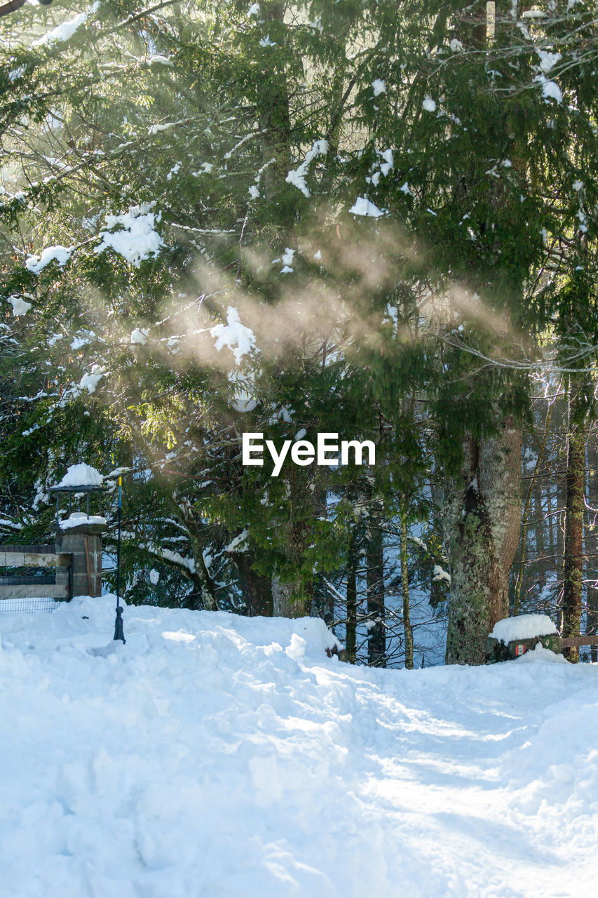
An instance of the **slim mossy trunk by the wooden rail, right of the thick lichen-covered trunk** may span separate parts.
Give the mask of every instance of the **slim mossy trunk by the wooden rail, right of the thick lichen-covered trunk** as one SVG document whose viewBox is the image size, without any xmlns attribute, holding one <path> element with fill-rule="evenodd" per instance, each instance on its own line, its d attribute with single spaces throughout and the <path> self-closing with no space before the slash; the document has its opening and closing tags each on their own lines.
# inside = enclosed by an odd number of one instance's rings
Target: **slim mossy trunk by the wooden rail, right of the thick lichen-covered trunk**
<svg viewBox="0 0 598 898">
<path fill-rule="evenodd" d="M 565 558 L 563 564 L 564 637 L 581 634 L 582 591 L 584 583 L 584 499 L 585 499 L 585 412 L 576 375 L 569 383 L 567 424 L 567 497 L 565 518 Z M 578 648 L 566 648 L 569 661 L 579 660 Z"/>
</svg>

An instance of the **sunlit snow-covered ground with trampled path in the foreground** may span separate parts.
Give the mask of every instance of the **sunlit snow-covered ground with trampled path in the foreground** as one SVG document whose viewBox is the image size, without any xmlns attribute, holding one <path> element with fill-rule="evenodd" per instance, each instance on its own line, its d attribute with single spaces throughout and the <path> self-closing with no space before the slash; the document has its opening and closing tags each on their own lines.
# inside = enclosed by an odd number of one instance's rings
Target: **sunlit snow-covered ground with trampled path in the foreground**
<svg viewBox="0 0 598 898">
<path fill-rule="evenodd" d="M 350 667 L 321 621 L 0 615 L 2 898 L 595 893 L 598 666 Z M 548 660 L 547 660 L 548 659 Z"/>
</svg>

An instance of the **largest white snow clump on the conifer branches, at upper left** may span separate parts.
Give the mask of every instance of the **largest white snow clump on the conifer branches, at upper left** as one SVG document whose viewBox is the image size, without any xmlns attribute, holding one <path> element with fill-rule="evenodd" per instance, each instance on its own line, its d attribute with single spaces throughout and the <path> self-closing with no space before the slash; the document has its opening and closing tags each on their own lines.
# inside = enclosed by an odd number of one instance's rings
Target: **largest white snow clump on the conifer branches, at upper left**
<svg viewBox="0 0 598 898">
<path fill-rule="evenodd" d="M 100 232 L 101 243 L 95 252 L 113 250 L 136 268 L 151 256 L 157 256 L 164 242 L 155 230 L 160 215 L 154 214 L 154 203 L 132 206 L 119 216 L 106 216 L 106 225 Z"/>
</svg>

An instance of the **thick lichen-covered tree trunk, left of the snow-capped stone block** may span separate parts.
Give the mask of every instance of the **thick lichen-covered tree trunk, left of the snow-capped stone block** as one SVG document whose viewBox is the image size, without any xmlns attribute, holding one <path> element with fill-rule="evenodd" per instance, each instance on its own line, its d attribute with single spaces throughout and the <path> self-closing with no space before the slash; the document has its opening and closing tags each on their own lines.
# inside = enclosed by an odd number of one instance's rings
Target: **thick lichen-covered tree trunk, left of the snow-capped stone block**
<svg viewBox="0 0 598 898">
<path fill-rule="evenodd" d="M 509 570 L 521 526 L 521 430 L 464 440 L 446 481 L 444 545 L 451 573 L 446 663 L 481 665 L 488 633 L 508 616 Z"/>
</svg>

